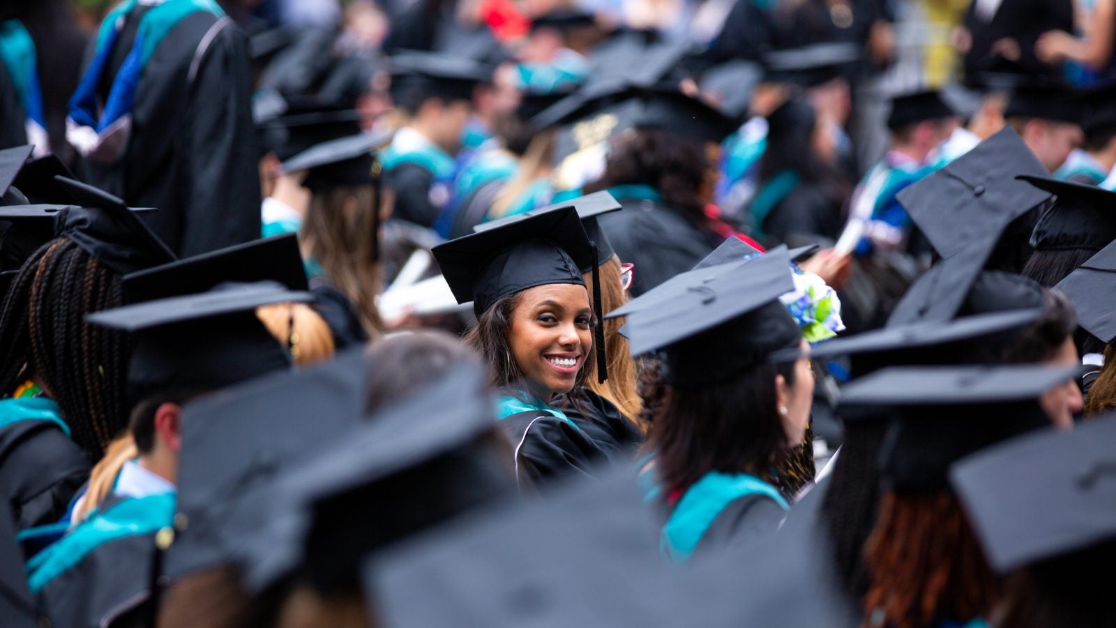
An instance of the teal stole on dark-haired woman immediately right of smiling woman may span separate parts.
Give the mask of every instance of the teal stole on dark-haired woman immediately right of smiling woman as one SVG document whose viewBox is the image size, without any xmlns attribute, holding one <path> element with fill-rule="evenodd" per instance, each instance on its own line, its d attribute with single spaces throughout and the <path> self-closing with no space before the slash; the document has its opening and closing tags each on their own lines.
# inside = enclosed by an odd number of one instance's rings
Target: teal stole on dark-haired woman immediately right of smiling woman
<svg viewBox="0 0 1116 628">
<path fill-rule="evenodd" d="M 679 564 L 689 561 L 718 515 L 748 495 L 768 497 L 782 510 L 790 507 L 775 486 L 754 475 L 710 472 L 686 489 L 666 520 L 660 536 L 663 556 Z"/>
</svg>

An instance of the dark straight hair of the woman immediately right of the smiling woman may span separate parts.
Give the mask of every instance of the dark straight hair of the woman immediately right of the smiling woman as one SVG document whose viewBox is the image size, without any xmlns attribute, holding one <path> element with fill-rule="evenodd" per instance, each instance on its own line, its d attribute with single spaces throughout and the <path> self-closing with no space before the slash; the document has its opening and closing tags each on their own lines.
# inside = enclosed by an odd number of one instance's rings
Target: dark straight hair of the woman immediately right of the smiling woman
<svg viewBox="0 0 1116 628">
<path fill-rule="evenodd" d="M 793 362 L 752 367 L 705 388 L 666 386 L 646 443 L 657 453 L 664 495 L 685 491 L 710 472 L 747 473 L 780 485 L 772 469 L 790 449 L 777 409 L 776 375 L 793 386 Z"/>
</svg>

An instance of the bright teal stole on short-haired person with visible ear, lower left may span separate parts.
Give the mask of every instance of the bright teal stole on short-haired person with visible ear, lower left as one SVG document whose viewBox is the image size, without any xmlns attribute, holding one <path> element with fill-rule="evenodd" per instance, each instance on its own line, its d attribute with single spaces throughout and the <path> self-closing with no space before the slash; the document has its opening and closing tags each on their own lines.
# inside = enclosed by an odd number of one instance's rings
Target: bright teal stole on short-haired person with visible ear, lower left
<svg viewBox="0 0 1116 628">
<path fill-rule="evenodd" d="M 175 493 L 124 499 L 96 512 L 46 550 L 27 561 L 32 593 L 80 563 L 97 548 L 127 536 L 153 534 L 171 525 Z"/>
</svg>

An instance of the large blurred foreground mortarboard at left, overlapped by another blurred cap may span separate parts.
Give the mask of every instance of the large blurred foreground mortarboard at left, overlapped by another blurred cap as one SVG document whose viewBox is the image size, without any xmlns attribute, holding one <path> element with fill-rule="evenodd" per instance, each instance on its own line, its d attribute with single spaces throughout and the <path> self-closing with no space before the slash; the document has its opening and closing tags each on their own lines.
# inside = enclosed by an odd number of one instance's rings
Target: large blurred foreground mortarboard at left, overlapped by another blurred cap
<svg viewBox="0 0 1116 628">
<path fill-rule="evenodd" d="M 228 564 L 244 543 L 267 542 L 273 521 L 247 496 L 355 426 L 366 386 L 363 349 L 324 364 L 243 382 L 182 412 L 177 535 L 166 573 Z M 270 527 L 267 527 L 270 532 Z"/>
</svg>

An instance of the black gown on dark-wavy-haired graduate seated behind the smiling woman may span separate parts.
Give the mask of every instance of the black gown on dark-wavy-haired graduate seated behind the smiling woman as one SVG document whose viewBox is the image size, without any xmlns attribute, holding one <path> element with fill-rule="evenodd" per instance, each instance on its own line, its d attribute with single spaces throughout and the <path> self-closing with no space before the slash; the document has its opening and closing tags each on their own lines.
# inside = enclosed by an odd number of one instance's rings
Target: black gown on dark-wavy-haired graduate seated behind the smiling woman
<svg viewBox="0 0 1116 628">
<path fill-rule="evenodd" d="M 619 199 L 624 211 L 597 218 L 620 261 L 635 265 L 632 296 L 693 268 L 724 238 L 704 232 L 677 211 L 652 201 Z"/>
</svg>

